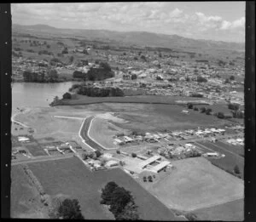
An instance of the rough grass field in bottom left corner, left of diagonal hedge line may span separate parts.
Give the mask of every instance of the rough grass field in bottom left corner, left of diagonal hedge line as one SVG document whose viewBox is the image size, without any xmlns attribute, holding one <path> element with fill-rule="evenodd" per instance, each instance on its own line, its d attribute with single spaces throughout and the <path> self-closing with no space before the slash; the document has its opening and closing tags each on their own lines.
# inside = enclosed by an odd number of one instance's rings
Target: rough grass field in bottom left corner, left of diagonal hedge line
<svg viewBox="0 0 256 222">
<path fill-rule="evenodd" d="M 11 168 L 11 218 L 47 218 L 40 195 L 35 187 L 29 184 L 26 174 L 20 166 Z"/>
</svg>

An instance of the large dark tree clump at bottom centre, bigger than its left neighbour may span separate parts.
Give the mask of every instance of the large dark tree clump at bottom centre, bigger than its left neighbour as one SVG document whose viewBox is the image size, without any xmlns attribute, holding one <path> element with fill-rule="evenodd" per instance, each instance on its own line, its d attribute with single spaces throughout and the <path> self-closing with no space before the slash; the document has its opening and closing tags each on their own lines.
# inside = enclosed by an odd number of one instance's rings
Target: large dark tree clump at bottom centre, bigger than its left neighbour
<svg viewBox="0 0 256 222">
<path fill-rule="evenodd" d="M 115 219 L 118 220 L 137 220 L 137 205 L 135 204 L 130 191 L 126 191 L 124 187 L 119 187 L 114 182 L 109 182 L 102 189 L 101 204 L 109 206 L 109 210 L 113 213 Z"/>
</svg>

